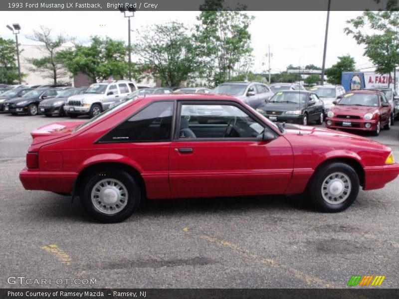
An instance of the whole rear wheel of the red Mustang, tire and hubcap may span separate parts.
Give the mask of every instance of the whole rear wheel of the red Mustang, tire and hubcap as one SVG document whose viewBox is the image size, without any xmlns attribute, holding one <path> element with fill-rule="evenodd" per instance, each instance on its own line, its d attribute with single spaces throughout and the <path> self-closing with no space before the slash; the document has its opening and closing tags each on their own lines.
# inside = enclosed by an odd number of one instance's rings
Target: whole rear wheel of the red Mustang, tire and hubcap
<svg viewBox="0 0 399 299">
<path fill-rule="evenodd" d="M 92 194 L 96 190 L 98 195 Z M 106 190 L 110 191 L 104 196 Z M 83 207 L 88 214 L 102 223 L 126 220 L 136 211 L 141 197 L 139 184 L 124 170 L 106 169 L 92 172 L 87 175 L 80 190 Z"/>
</svg>

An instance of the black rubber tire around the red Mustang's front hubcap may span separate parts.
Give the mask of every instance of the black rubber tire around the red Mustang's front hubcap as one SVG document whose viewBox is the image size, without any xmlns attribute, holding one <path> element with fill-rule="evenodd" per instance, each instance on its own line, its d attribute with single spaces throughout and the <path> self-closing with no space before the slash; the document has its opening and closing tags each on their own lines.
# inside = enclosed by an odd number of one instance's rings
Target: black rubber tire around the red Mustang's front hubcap
<svg viewBox="0 0 399 299">
<path fill-rule="evenodd" d="M 326 179 L 326 177 L 329 174 L 334 172 L 345 173 L 351 180 L 352 184 L 352 189 L 349 197 L 340 204 L 330 204 L 326 202 L 323 199 L 321 193 L 321 186 L 323 184 L 323 181 Z M 355 169 L 353 169 L 352 166 L 346 163 L 333 162 L 322 166 L 313 174 L 311 183 L 308 188 L 308 192 L 311 201 L 318 210 L 327 213 L 335 213 L 335 212 L 341 212 L 347 209 L 349 206 L 351 206 L 358 196 L 359 189 L 360 189 L 360 181 L 359 181 L 359 176 L 356 173 Z"/>
</svg>

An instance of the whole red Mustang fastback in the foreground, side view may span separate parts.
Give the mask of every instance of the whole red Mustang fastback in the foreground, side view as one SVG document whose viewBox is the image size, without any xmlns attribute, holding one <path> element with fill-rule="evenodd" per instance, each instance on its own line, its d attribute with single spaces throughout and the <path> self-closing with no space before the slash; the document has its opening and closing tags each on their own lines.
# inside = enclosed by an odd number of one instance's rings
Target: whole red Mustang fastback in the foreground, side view
<svg viewBox="0 0 399 299">
<path fill-rule="evenodd" d="M 299 194 L 338 212 L 360 186 L 378 189 L 399 164 L 389 147 L 327 129 L 273 124 L 233 97 L 173 94 L 128 100 L 88 122 L 32 132 L 20 180 L 79 195 L 102 222 L 128 218 L 144 197 Z"/>
</svg>

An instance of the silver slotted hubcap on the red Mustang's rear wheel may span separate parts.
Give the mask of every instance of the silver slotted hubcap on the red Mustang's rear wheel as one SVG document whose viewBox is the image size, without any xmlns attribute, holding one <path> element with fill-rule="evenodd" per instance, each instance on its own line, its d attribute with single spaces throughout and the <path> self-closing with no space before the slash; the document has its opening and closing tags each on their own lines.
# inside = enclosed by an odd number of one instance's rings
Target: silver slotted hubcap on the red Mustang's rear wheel
<svg viewBox="0 0 399 299">
<path fill-rule="evenodd" d="M 116 214 L 126 207 L 128 191 L 117 179 L 102 179 L 91 190 L 91 202 L 101 213 Z"/>
</svg>

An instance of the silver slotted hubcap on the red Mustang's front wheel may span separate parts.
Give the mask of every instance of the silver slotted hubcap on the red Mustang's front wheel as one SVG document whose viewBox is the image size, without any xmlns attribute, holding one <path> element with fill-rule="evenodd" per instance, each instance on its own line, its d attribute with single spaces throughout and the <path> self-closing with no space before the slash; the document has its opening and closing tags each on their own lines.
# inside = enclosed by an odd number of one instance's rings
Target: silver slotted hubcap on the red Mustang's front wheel
<svg viewBox="0 0 399 299">
<path fill-rule="evenodd" d="M 351 194 L 352 183 L 348 175 L 334 172 L 328 175 L 321 186 L 323 199 L 330 204 L 340 204 Z"/>
</svg>

